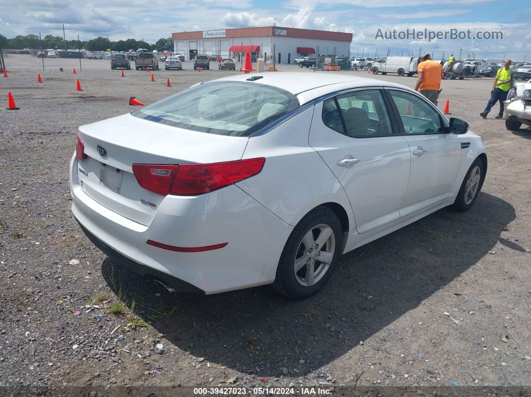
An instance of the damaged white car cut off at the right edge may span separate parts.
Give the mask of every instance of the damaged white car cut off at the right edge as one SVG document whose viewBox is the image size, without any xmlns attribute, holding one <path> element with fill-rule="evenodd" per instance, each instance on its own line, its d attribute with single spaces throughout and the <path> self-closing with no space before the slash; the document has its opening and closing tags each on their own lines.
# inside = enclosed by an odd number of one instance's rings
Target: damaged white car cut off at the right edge
<svg viewBox="0 0 531 397">
<path fill-rule="evenodd" d="M 531 73 L 511 75 L 511 85 L 505 104 L 505 126 L 516 131 L 522 124 L 531 127 Z"/>
</svg>

